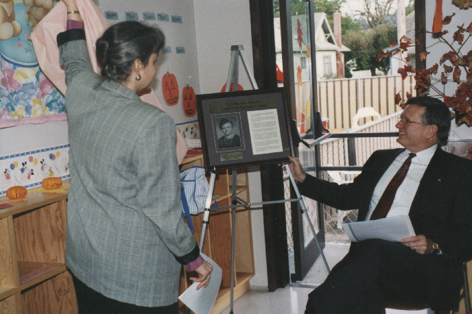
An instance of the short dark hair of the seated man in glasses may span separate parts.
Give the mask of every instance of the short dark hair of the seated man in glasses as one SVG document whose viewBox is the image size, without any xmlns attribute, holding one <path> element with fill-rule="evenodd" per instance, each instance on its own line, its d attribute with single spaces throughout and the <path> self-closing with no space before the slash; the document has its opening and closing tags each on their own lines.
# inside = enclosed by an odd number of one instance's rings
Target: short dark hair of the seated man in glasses
<svg viewBox="0 0 472 314">
<path fill-rule="evenodd" d="M 449 130 L 451 130 L 451 112 L 446 104 L 440 99 L 429 96 L 411 97 L 406 101 L 406 105 L 416 105 L 425 107 L 423 114 L 423 125 L 437 125 L 438 145 L 447 143 Z"/>
</svg>

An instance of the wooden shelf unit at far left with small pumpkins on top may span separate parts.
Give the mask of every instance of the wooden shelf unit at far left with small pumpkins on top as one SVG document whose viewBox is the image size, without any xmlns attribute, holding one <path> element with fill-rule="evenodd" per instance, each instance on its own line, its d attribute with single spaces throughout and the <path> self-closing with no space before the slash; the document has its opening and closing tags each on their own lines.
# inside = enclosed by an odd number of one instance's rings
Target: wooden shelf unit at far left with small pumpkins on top
<svg viewBox="0 0 472 314">
<path fill-rule="evenodd" d="M 0 209 L 0 313 L 78 313 L 64 257 L 67 193 L 0 204 L 11 206 Z"/>
</svg>

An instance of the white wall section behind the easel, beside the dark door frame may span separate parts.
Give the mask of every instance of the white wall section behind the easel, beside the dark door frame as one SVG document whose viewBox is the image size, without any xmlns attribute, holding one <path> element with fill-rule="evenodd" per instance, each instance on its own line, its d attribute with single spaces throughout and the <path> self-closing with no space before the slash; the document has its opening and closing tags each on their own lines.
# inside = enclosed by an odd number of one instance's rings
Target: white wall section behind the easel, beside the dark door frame
<svg viewBox="0 0 472 314">
<path fill-rule="evenodd" d="M 243 45 L 252 67 L 252 37 L 248 0 L 194 0 L 195 25 L 200 71 L 201 93 L 218 93 L 226 83 L 231 60 L 231 46 Z M 244 90 L 252 89 L 250 78 L 239 58 L 239 84 Z M 259 171 L 250 171 L 250 200 L 261 201 Z M 252 210 L 252 239 L 256 274 L 250 280 L 252 288 L 268 287 L 266 244 L 262 210 Z"/>
</svg>

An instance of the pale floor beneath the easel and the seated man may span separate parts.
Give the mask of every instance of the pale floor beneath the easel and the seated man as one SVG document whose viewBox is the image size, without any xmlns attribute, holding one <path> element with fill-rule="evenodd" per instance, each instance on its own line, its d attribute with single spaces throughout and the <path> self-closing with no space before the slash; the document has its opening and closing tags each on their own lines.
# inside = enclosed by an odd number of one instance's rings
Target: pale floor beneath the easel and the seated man
<svg viewBox="0 0 472 314">
<path fill-rule="evenodd" d="M 348 252 L 349 244 L 345 243 L 327 243 L 325 258 L 331 269 Z M 290 258 L 291 260 L 293 258 Z M 293 271 L 293 263 L 290 265 Z M 303 282 L 292 282 L 283 289 L 277 289 L 274 292 L 250 290 L 233 304 L 233 313 L 283 313 L 298 314 L 304 313 L 308 300 L 308 293 L 318 287 L 327 277 L 328 271 L 322 258 L 318 258 L 311 267 Z M 231 313 L 230 308 L 222 311 L 224 314 Z M 423 311 L 397 311 L 387 309 L 386 314 L 431 314 L 428 310 Z"/>
</svg>

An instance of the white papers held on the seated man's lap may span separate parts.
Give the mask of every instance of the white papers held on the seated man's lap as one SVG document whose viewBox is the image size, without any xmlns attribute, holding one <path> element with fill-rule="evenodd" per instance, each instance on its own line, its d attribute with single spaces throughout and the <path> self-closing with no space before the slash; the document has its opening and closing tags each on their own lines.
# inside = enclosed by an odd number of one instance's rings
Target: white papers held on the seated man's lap
<svg viewBox="0 0 472 314">
<path fill-rule="evenodd" d="M 392 242 L 400 242 L 403 238 L 416 235 L 412 221 L 410 221 L 408 215 L 350 222 L 348 224 L 342 224 L 342 230 L 346 232 L 352 242 L 359 242 L 366 239 L 384 239 Z"/>
</svg>

